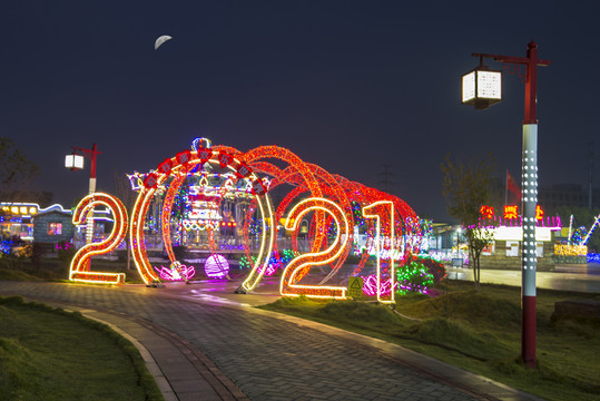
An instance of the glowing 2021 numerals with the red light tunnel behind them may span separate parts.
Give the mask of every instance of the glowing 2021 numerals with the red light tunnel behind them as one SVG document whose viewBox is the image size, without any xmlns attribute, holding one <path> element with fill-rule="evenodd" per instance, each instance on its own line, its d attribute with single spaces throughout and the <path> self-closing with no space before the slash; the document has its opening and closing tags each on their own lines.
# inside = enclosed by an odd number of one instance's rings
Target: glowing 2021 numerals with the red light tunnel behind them
<svg viewBox="0 0 600 401">
<path fill-rule="evenodd" d="M 289 167 L 281 169 L 267 163 L 257 160 L 267 157 L 279 158 L 289 163 Z M 146 175 L 142 179 L 142 184 L 139 185 L 139 194 L 131 211 L 129 238 L 134 262 L 140 277 L 146 284 L 159 281 L 157 272 L 155 272 L 148 261 L 145 248 L 144 225 L 150 202 L 158 188 L 165 190 L 160 216 L 163 222 L 163 242 L 168 257 L 171 261 L 171 267 L 177 268 L 177 266 L 181 265 L 176 263 L 177 261 L 173 253 L 170 239 L 170 219 L 174 197 L 185 183 L 186 177 L 193 172 L 198 170 L 198 168 L 201 168 L 205 164 L 210 164 L 215 166 L 214 168 L 217 168 L 218 166 L 219 168 L 234 174 L 235 177 L 245 185 L 248 195 L 255 203 L 255 206 L 253 207 L 260 217 L 258 219 L 260 222 L 260 227 L 257 232 L 259 239 L 258 255 L 248 276 L 242 284 L 243 288 L 246 291 L 253 290 L 267 271 L 267 265 L 269 263 L 268 256 L 276 245 L 274 222 L 278 222 L 285 207 L 289 205 L 295 197 L 306 190 L 311 192 L 313 196 L 298 202 L 296 206 L 293 207 L 285 222 L 286 228 L 293 229 L 294 233 L 297 234 L 303 216 L 307 213 L 314 213 L 315 215 L 321 216 L 317 218 L 317 229 L 315 229 L 314 233 L 313 251 L 295 257 L 287 264 L 282 276 L 282 294 L 289 296 L 305 294 L 315 297 L 346 296 L 345 287 L 303 285 L 298 282 L 307 273 L 309 266 L 332 264 L 334 268 L 338 268 L 343 264 L 351 247 L 348 244 L 352 245 L 348 242 L 348 238 L 352 237 L 354 229 L 350 196 L 353 196 L 354 199 L 356 199 L 353 202 L 360 200 L 364 205 L 362 207 L 363 217 L 372 221 L 370 223 L 373 228 L 373 233 L 370 235 L 371 247 L 385 251 L 388 255 L 400 255 L 397 257 L 402 257 L 402 255 L 406 255 L 414 251 L 414 244 L 411 244 L 410 241 L 403 238 L 401 245 L 400 237 L 395 236 L 395 232 L 402 233 L 403 231 L 405 234 L 419 235 L 420 233 L 416 215 L 403 200 L 396 197 L 377 192 L 376 189 L 364 187 L 357 183 L 347 182 L 343 177 L 334 177 L 323 169 L 319 169 L 319 167 L 304 164 L 297 156 L 274 146 L 262 147 L 256 151 L 250 150 L 246 154 L 238 153 L 228 147 L 205 148 L 200 146 L 198 148 L 193 148 L 193 151 L 184 150 L 175 157 L 166 159 L 158 166 L 156 172 Z M 271 174 L 274 179 L 269 183 L 263 180 L 256 176 L 255 168 L 259 168 L 262 173 Z M 311 177 L 318 177 L 321 182 Z M 167 188 L 165 183 L 168 178 L 170 182 Z M 277 209 L 274 211 L 269 197 L 265 196 L 265 194 L 269 185 L 274 186 L 278 185 L 278 183 L 293 183 L 298 185 L 298 187 L 292 190 L 279 204 Z M 244 185 L 242 187 L 244 187 Z M 218 196 L 216 197 L 223 198 L 218 192 L 225 193 L 227 187 L 223 186 L 217 190 L 216 195 Z M 323 195 L 327 197 L 324 197 Z M 120 243 L 120 241 L 122 241 L 124 233 L 127 229 L 128 218 L 120 202 L 107 194 L 91 194 L 83 198 L 76 208 L 73 223 L 82 224 L 83 215 L 96 204 L 104 204 L 115 215 L 116 224 L 114 233 L 111 233 L 111 235 L 102 243 L 89 244 L 81 248 L 76 257 L 73 257 L 69 277 L 73 281 L 121 283 L 124 281 L 122 275 L 92 273 L 90 272 L 89 265 L 89 257 L 110 252 Z M 248 212 L 254 213 L 254 209 Z M 396 212 L 401 216 L 400 219 L 395 218 Z M 321 250 L 322 245 L 326 244 L 323 234 L 325 231 L 324 227 L 331 226 L 332 223 L 336 227 L 335 238 L 331 242 L 328 247 Z M 209 232 L 212 233 L 212 229 Z M 381 253 L 382 252 L 377 252 L 378 258 L 381 257 Z M 392 277 L 392 281 L 394 280 L 393 258 L 394 257 L 391 258 L 391 266 L 385 272 L 386 275 Z M 381 284 L 383 280 L 383 272 L 380 266 L 381 265 L 377 262 L 378 284 Z M 394 283 L 392 282 L 391 284 L 393 287 Z M 380 287 L 381 286 L 383 285 L 380 285 Z M 385 296 L 382 295 L 380 291 L 377 292 L 377 297 L 381 302 L 394 302 L 393 291 Z"/>
</svg>

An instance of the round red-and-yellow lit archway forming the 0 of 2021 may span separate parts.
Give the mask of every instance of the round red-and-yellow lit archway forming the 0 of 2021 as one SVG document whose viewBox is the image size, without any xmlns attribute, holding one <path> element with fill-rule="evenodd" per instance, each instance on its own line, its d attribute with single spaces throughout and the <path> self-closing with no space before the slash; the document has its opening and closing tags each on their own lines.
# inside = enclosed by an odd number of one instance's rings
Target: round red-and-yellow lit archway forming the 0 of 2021
<svg viewBox="0 0 600 401">
<path fill-rule="evenodd" d="M 273 207 L 269 197 L 266 195 L 265 184 L 263 183 L 263 179 L 259 178 L 246 163 L 240 160 L 239 157 L 236 157 L 236 155 L 226 150 L 213 149 L 207 140 L 195 140 L 191 150 L 184 150 L 171 158 L 165 159 L 165 162 L 158 166 L 156 172 L 144 177 L 142 185 L 139 186 L 139 194 L 131 212 L 130 243 L 138 273 L 146 284 L 160 281 L 159 273 L 153 268 L 148 260 L 145 246 L 144 226 L 150 200 L 157 190 L 165 190 L 161 211 L 161 235 L 170 262 L 169 268 L 175 271 L 178 274 L 178 277 L 187 277 L 188 272 L 185 270 L 185 266 L 177 261 L 173 252 L 170 239 L 171 207 L 175 195 L 186 177 L 197 174 L 199 175 L 200 184 L 206 186 L 208 185 L 207 170 L 213 168 L 219 169 L 219 176 L 225 177 L 225 183 L 219 188 L 214 189 L 216 192 L 216 199 L 223 199 L 229 192 L 242 192 L 252 197 L 257 205 L 262 221 L 260 245 L 256 261 L 252 266 L 248 277 L 244 282 L 244 287 L 247 290 L 254 288 L 263 276 L 266 265 L 268 264 L 268 255 L 271 255 L 274 239 L 274 228 L 272 224 Z M 207 224 L 206 219 L 201 223 L 197 221 L 193 224 L 204 224 L 204 228 L 209 233 L 217 228 L 215 226 L 207 226 L 210 225 L 210 223 Z M 209 243 L 212 251 L 215 251 L 210 238 Z"/>
</svg>

